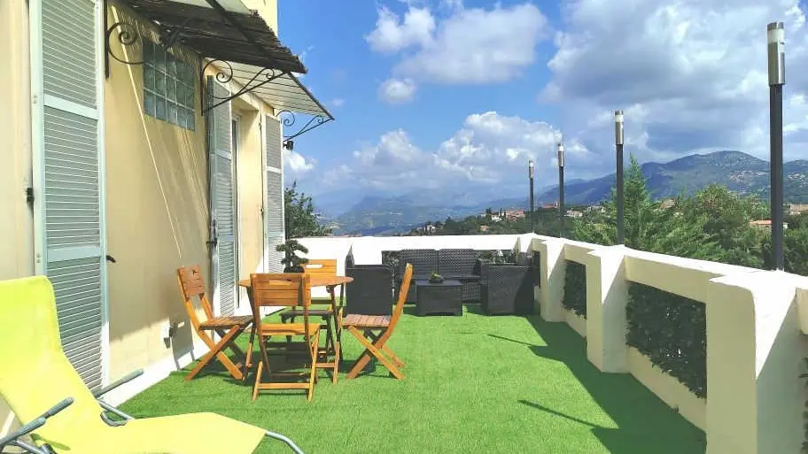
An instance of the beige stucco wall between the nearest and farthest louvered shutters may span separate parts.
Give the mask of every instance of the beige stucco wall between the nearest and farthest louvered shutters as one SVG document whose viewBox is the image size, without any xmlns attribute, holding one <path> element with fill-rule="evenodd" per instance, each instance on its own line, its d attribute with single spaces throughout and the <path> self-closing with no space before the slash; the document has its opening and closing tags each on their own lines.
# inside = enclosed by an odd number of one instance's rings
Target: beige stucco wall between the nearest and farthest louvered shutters
<svg viewBox="0 0 808 454">
<path fill-rule="evenodd" d="M 129 51 L 140 59 L 139 47 Z M 152 118 L 143 112 L 142 66 L 113 61 L 111 70 L 105 87 L 106 215 L 107 249 L 117 260 L 108 266 L 110 378 L 115 380 L 136 368 L 187 360 L 193 342 L 199 341 L 187 323 L 175 272 L 198 264 L 209 276 L 210 256 L 206 128 L 200 108 L 194 131 Z M 199 96 L 197 87 L 197 103 Z M 262 241 L 261 108 L 241 100 L 233 104 L 241 114 L 237 209 L 241 268 L 247 273 L 260 258 Z M 167 343 L 161 328 L 169 322 L 178 329 Z"/>
</svg>

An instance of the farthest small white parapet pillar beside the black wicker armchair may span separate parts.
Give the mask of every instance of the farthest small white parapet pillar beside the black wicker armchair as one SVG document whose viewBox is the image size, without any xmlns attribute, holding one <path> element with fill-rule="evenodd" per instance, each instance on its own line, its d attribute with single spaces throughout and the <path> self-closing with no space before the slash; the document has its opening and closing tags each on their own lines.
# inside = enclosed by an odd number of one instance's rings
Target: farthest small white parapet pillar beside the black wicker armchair
<svg viewBox="0 0 808 454">
<path fill-rule="evenodd" d="M 532 250 L 540 254 L 540 291 L 536 303 L 540 306 L 541 318 L 547 321 L 563 321 L 564 273 L 563 240 L 532 240 Z"/>
</svg>

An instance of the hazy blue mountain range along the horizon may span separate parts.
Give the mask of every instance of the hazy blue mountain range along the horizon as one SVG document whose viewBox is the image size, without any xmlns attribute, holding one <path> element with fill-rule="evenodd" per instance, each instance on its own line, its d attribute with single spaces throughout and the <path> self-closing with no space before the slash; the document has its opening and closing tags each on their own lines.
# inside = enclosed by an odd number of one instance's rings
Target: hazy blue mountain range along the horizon
<svg viewBox="0 0 808 454">
<path fill-rule="evenodd" d="M 649 162 L 641 165 L 648 181 L 651 196 L 662 199 L 684 192 L 693 194 L 699 189 L 717 183 L 735 193 L 746 196 L 769 196 L 769 163 L 741 151 L 717 151 L 703 155 L 690 155 L 667 163 Z M 783 165 L 786 202 L 808 202 L 808 160 L 789 161 Z M 564 183 L 566 204 L 597 204 L 610 195 L 615 174 L 593 180 L 573 180 Z M 407 231 L 427 220 L 463 218 L 505 208 L 527 208 L 527 197 L 497 198 L 501 187 L 480 189 L 465 193 L 422 191 L 403 196 L 377 194 L 365 196 L 343 212 L 326 212 L 326 218 L 339 227 L 335 233 L 361 233 L 362 235 L 389 235 Z M 536 204 L 556 201 L 558 186 L 536 190 Z M 333 196 L 332 196 L 333 197 Z M 356 198 L 354 198 L 356 200 Z M 327 198 L 315 197 L 319 207 L 335 204 Z M 348 204 L 343 204 L 346 207 Z"/>
</svg>

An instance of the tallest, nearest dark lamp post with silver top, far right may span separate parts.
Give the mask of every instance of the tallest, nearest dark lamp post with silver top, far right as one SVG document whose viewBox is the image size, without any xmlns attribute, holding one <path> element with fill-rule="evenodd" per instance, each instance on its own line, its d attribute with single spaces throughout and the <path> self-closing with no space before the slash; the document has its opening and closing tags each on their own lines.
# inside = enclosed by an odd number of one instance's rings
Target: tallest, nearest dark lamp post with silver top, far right
<svg viewBox="0 0 808 454">
<path fill-rule="evenodd" d="M 769 55 L 769 135 L 771 138 L 772 249 L 774 269 L 783 269 L 782 87 L 786 84 L 786 32 L 782 22 L 766 27 Z"/>
</svg>

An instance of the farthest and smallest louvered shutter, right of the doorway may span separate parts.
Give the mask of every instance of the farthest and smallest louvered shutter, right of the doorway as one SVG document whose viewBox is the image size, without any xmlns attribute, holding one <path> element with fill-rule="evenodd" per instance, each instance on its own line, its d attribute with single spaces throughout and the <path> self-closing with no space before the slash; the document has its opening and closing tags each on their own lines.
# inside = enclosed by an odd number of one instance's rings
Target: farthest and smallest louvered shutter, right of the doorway
<svg viewBox="0 0 808 454">
<path fill-rule="evenodd" d="M 283 252 L 275 250 L 284 234 L 284 157 L 281 150 L 281 122 L 265 116 L 264 121 L 264 244 L 268 273 L 281 273 Z"/>
</svg>

